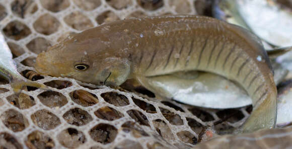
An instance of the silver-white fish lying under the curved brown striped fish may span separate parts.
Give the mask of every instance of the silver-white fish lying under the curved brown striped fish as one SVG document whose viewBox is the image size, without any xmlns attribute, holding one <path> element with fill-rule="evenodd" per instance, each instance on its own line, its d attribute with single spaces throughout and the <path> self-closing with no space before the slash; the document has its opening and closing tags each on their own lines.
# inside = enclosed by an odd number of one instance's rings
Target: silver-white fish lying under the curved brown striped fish
<svg viewBox="0 0 292 149">
<path fill-rule="evenodd" d="M 192 75 L 185 72 L 182 75 Z M 156 98 L 172 99 L 192 106 L 228 109 L 252 104 L 246 91 L 222 76 L 210 72 L 197 71 L 196 78 L 178 77 L 173 74 L 147 77 L 143 87 L 155 92 Z"/>
</svg>

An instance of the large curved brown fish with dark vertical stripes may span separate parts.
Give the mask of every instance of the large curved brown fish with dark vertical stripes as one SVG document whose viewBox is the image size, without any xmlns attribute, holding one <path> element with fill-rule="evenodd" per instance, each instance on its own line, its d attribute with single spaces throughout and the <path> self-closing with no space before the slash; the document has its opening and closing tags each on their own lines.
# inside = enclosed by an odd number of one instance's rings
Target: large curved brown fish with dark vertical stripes
<svg viewBox="0 0 292 149">
<path fill-rule="evenodd" d="M 41 75 L 95 85 L 119 86 L 128 79 L 179 71 L 216 73 L 241 85 L 253 112 L 234 133 L 273 128 L 277 90 L 260 39 L 210 17 L 170 15 L 111 22 L 68 36 L 40 53 Z M 154 91 L 155 93 L 155 91 Z"/>
</svg>

